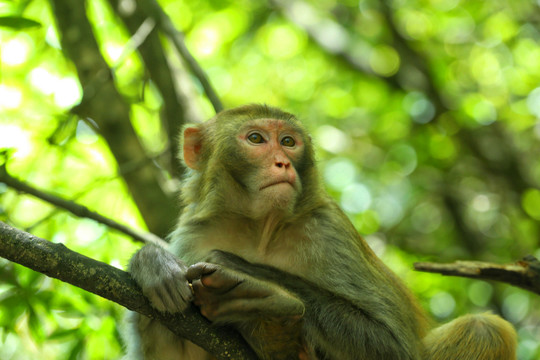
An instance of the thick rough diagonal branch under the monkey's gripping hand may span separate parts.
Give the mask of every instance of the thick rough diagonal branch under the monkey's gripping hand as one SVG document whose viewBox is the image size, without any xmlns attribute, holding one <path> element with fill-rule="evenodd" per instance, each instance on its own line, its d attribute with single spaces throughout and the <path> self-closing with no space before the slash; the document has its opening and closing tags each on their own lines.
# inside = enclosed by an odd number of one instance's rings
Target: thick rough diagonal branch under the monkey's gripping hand
<svg viewBox="0 0 540 360">
<path fill-rule="evenodd" d="M 242 337 L 230 328 L 211 326 L 197 308 L 185 314 L 160 313 L 122 270 L 0 222 L 0 256 L 47 276 L 157 319 L 173 333 L 201 346 L 218 359 L 256 359 Z"/>
</svg>

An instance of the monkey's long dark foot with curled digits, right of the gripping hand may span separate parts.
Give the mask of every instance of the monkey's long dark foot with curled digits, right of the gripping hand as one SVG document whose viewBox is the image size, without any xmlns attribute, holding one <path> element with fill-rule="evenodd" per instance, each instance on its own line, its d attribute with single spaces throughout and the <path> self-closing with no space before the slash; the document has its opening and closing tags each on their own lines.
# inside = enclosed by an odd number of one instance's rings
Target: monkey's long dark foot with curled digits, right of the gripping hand
<svg viewBox="0 0 540 360">
<path fill-rule="evenodd" d="M 195 305 L 213 322 L 261 319 L 300 320 L 304 304 L 280 286 L 223 265 L 197 263 L 188 268 Z"/>
</svg>

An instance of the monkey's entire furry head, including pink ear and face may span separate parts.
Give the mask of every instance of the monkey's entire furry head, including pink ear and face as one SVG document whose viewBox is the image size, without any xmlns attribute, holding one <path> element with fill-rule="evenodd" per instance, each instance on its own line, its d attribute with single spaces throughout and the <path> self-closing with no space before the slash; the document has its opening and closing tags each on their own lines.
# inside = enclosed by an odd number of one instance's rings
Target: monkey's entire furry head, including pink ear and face
<svg viewBox="0 0 540 360">
<path fill-rule="evenodd" d="M 183 133 L 191 169 L 183 200 L 199 212 L 291 215 L 317 178 L 311 138 L 292 114 L 265 105 L 220 112 Z"/>
</svg>

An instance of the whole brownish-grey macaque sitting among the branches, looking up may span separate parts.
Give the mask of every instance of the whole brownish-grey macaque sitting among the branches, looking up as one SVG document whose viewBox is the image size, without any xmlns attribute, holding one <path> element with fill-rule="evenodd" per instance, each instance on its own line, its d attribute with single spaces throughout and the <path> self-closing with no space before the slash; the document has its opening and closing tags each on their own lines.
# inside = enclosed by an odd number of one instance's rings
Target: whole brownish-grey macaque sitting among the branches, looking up
<svg viewBox="0 0 540 360">
<path fill-rule="evenodd" d="M 323 190 L 294 115 L 248 105 L 183 135 L 190 170 L 170 247 L 146 245 L 130 263 L 155 308 L 194 301 L 261 359 L 515 359 L 515 332 L 494 315 L 426 337 L 413 296 Z M 128 359 L 211 358 L 156 320 L 132 321 Z"/>
</svg>

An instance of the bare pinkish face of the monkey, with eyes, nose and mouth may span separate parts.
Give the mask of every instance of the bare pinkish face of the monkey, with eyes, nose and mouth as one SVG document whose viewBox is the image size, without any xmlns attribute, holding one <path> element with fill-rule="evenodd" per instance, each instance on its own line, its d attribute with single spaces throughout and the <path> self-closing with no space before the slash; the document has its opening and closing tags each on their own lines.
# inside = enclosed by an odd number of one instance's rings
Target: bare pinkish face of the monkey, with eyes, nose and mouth
<svg viewBox="0 0 540 360">
<path fill-rule="evenodd" d="M 294 209 L 302 185 L 296 170 L 304 152 L 303 134 L 287 121 L 257 119 L 246 122 L 236 141 L 243 161 L 243 185 L 251 216 Z"/>
</svg>

